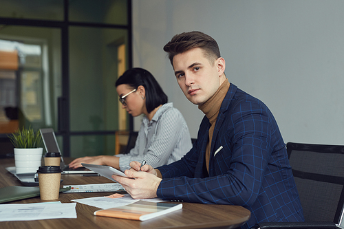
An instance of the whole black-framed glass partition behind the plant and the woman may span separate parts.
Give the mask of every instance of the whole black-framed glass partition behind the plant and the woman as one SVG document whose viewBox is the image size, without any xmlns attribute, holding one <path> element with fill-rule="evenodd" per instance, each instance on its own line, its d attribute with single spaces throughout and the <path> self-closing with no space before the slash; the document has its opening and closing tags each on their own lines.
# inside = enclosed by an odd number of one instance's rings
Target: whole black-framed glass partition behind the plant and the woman
<svg viewBox="0 0 344 229">
<path fill-rule="evenodd" d="M 130 15 L 131 0 L 1 0 L 0 149 L 31 126 L 53 128 L 66 157 L 114 154 L 132 129 L 114 86 L 131 67 Z"/>
</svg>

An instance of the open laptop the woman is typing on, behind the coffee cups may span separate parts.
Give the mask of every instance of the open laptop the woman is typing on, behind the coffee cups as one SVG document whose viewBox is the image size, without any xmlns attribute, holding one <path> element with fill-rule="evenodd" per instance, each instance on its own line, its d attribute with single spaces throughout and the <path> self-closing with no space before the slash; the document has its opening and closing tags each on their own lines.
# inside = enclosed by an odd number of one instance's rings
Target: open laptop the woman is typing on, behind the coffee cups
<svg viewBox="0 0 344 229">
<path fill-rule="evenodd" d="M 54 133 L 54 130 L 52 128 L 46 128 L 46 129 L 39 129 L 41 131 L 42 140 L 45 146 L 45 150 L 47 152 L 56 152 L 61 153 L 60 148 L 58 147 L 58 143 L 56 140 L 56 136 Z M 68 165 L 65 165 L 65 162 L 63 160 L 63 156 L 61 153 L 61 170 L 63 174 L 83 174 L 83 173 L 95 173 L 94 171 L 90 171 L 89 169 L 85 167 L 80 168 L 69 168 Z"/>
</svg>

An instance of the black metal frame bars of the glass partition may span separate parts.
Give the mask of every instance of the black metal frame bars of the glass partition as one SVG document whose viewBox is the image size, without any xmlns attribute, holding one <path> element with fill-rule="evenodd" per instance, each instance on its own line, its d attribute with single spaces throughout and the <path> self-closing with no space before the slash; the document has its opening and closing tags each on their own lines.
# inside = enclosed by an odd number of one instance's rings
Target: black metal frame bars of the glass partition
<svg viewBox="0 0 344 229">
<path fill-rule="evenodd" d="M 133 66 L 132 58 L 132 17 L 131 0 L 127 0 L 127 25 L 116 25 L 109 23 L 83 23 L 69 21 L 68 0 L 63 0 L 64 19 L 63 21 L 36 20 L 36 19 L 12 19 L 0 17 L 0 24 L 23 25 L 45 28 L 61 29 L 61 56 L 62 56 L 62 96 L 58 99 L 58 130 L 56 135 L 63 138 L 63 155 L 70 156 L 70 138 L 73 135 L 115 135 L 113 131 L 71 131 L 70 130 L 70 109 L 69 109 L 69 26 L 80 26 L 88 28 L 118 28 L 125 29 L 128 32 L 128 67 Z M 129 131 L 133 131 L 133 117 L 129 116 Z M 0 134 L 1 138 L 8 138 L 6 134 Z"/>
</svg>

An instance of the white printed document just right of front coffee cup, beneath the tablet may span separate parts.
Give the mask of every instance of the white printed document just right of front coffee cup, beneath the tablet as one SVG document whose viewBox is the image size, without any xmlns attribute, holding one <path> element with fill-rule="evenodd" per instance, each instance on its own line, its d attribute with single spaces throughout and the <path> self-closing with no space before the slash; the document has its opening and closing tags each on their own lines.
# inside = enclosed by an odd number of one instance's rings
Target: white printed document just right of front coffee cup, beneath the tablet
<svg viewBox="0 0 344 229">
<path fill-rule="evenodd" d="M 125 188 L 118 183 L 107 184 L 78 184 L 78 185 L 64 185 L 63 188 L 70 187 L 63 193 L 100 193 L 100 192 L 124 192 Z"/>
</svg>

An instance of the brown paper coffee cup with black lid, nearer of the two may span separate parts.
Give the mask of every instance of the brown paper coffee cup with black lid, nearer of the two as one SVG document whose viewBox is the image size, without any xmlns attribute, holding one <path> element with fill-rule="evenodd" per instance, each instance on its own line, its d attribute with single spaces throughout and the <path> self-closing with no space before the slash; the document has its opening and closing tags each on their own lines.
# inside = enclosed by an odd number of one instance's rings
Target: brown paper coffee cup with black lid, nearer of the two
<svg viewBox="0 0 344 229">
<path fill-rule="evenodd" d="M 43 200 L 58 199 L 60 194 L 61 168 L 60 166 L 40 166 L 39 193 Z"/>
</svg>

